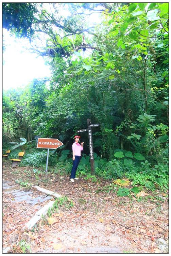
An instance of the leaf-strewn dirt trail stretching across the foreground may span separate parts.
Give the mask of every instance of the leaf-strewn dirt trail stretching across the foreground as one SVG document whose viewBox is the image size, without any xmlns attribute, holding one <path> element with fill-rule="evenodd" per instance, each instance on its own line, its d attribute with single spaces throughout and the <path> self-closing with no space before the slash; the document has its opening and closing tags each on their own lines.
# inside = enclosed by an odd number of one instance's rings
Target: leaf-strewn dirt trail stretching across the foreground
<svg viewBox="0 0 171 256">
<path fill-rule="evenodd" d="M 3 179 L 11 180 L 11 184 L 16 185 L 14 180 L 19 178 L 28 180 L 34 185 L 67 196 L 73 202 L 73 207 L 68 203 L 59 207 L 58 212 L 52 213 L 54 224 L 49 225 L 47 217 L 41 219 L 34 230 L 22 231 L 24 221 L 22 219 L 20 222 L 21 217 L 13 215 L 12 209 L 15 205 L 15 212 L 19 212 L 21 205 L 27 202 L 14 204 L 11 194 L 5 195 L 3 200 L 7 200 L 7 196 L 11 199 L 7 203 L 8 213 L 4 211 L 3 225 L 11 223 L 12 228 L 16 221 L 21 223 L 15 228 L 13 253 L 19 250 L 17 244 L 21 239 L 25 239 L 30 245 L 32 253 L 155 253 L 155 240 L 168 239 L 167 199 L 160 202 L 156 199 L 138 202 L 134 196 L 118 197 L 115 190 L 97 193 L 97 189 L 109 185 L 109 182 L 102 179 L 93 183 L 81 178 L 71 183 L 68 176 L 48 174 L 46 179 L 41 174 L 39 180 L 35 180 L 33 168 L 19 167 L 12 170 L 7 161 L 3 164 L 3 169 Z M 37 193 L 33 188 L 31 191 Z M 30 212 L 34 212 L 32 207 Z M 27 215 L 25 219 L 29 219 L 31 215 Z M 15 232 L 13 229 L 11 231 L 14 238 Z M 3 229 L 3 247 L 11 246 L 11 240 L 7 238 L 9 234 L 6 234 L 8 232 L 7 228 Z"/>
</svg>

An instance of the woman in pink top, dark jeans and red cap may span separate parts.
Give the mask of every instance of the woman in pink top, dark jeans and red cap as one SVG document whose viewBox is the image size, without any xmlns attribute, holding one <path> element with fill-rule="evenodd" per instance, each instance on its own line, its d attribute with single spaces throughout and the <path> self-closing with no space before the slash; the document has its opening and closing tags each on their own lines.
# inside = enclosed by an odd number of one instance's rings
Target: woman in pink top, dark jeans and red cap
<svg viewBox="0 0 171 256">
<path fill-rule="evenodd" d="M 78 180 L 78 178 L 75 178 L 75 173 L 76 173 L 76 169 L 80 162 L 81 151 L 83 150 L 83 143 L 84 143 L 84 142 L 81 142 L 81 145 L 80 145 L 80 143 L 79 143 L 80 138 L 81 138 L 80 136 L 76 135 L 74 137 L 75 142 L 72 144 L 73 166 L 72 166 L 71 176 L 70 176 L 71 182 L 74 182 L 74 179 Z"/>
</svg>

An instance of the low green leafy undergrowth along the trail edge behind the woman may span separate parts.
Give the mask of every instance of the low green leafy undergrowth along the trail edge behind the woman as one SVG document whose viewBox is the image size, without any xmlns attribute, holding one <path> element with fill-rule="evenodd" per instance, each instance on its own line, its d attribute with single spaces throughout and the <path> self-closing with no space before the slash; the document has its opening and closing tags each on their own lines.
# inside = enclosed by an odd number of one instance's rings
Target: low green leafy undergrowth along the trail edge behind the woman
<svg viewBox="0 0 171 256">
<path fill-rule="evenodd" d="M 91 175 L 90 159 L 89 156 L 82 157 L 76 175 L 83 177 L 85 180 L 91 180 L 97 182 L 98 177 L 104 180 L 115 179 L 129 179 L 132 185 L 140 185 L 147 190 L 154 191 L 156 188 L 161 191 L 168 189 L 168 146 L 161 150 L 163 159 L 160 162 L 149 162 L 147 159 L 142 158 L 142 155 L 138 155 L 134 158 L 131 152 L 124 151 L 122 154 L 119 151 L 118 157 L 108 161 L 102 159 L 95 154 L 95 175 Z M 18 154 L 18 150 L 12 152 L 11 156 L 14 157 Z M 67 153 L 68 154 L 68 153 Z M 121 158 L 123 157 L 123 158 Z M 61 156 L 58 154 L 49 154 L 48 166 L 49 171 L 57 175 L 70 175 L 72 169 L 72 158 L 68 157 L 60 160 Z M 136 158 L 136 159 L 135 159 Z M 47 151 L 35 151 L 29 152 L 24 155 L 20 166 L 33 166 L 33 167 L 46 167 Z M 143 160 L 141 160 L 143 159 Z"/>
</svg>

